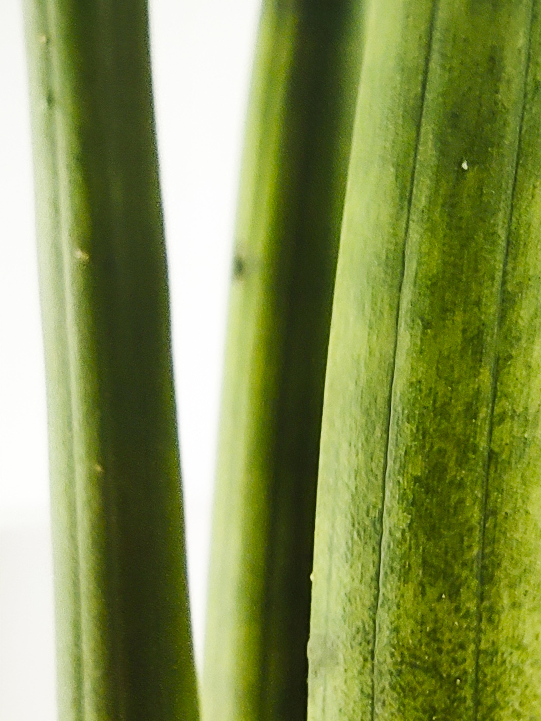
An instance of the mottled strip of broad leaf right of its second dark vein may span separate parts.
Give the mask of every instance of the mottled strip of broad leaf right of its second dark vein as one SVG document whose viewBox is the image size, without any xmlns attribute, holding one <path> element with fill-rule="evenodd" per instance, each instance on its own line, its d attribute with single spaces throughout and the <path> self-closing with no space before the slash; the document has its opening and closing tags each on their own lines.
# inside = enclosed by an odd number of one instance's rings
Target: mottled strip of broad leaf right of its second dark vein
<svg viewBox="0 0 541 721">
<path fill-rule="evenodd" d="M 529 63 L 498 327 L 478 719 L 541 715 L 541 17 Z"/>
</svg>

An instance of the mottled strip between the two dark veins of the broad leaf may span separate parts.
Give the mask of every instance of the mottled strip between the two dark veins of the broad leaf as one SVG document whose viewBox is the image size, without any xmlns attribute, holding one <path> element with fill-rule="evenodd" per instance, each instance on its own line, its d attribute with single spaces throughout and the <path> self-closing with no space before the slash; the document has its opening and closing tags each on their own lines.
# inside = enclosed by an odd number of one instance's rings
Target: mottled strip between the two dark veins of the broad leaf
<svg viewBox="0 0 541 721">
<path fill-rule="evenodd" d="M 442 4 L 436 24 L 393 388 L 377 718 L 475 715 L 485 468 L 530 8 Z"/>
</svg>

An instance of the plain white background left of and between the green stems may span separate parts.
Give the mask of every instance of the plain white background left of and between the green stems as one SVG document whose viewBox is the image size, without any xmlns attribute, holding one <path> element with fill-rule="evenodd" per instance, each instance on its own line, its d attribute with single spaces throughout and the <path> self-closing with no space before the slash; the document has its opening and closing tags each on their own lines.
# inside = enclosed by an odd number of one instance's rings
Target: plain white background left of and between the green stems
<svg viewBox="0 0 541 721">
<path fill-rule="evenodd" d="M 258 0 L 151 0 L 195 653 Z M 0 0 L 0 721 L 56 718 L 45 381 L 21 0 Z"/>
</svg>

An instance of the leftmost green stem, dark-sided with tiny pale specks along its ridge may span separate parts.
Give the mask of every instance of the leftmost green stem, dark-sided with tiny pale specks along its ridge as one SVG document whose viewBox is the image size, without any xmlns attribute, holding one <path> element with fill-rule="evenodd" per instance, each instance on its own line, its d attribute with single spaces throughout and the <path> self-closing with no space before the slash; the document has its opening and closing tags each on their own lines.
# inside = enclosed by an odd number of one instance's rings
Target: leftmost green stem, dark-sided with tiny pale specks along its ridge
<svg viewBox="0 0 541 721">
<path fill-rule="evenodd" d="M 59 714 L 195 720 L 146 4 L 25 9 Z"/>
</svg>

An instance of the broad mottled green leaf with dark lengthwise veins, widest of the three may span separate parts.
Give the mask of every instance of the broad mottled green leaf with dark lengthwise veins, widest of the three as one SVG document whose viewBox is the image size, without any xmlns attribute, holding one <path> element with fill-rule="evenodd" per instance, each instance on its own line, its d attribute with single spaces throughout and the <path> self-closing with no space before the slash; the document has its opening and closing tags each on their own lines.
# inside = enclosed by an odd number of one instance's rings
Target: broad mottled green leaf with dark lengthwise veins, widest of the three
<svg viewBox="0 0 541 721">
<path fill-rule="evenodd" d="M 541 717 L 539 15 L 371 6 L 322 422 L 313 721 Z"/>
</svg>

